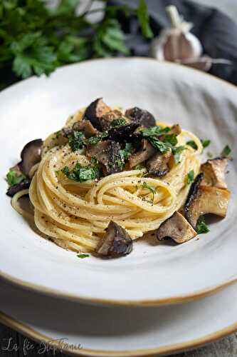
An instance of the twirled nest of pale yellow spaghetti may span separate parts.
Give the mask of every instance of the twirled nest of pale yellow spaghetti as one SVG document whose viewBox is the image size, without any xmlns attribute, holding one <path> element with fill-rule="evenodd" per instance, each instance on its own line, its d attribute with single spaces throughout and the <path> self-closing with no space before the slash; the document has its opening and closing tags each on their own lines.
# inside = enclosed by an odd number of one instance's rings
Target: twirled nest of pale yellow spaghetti
<svg viewBox="0 0 237 357">
<path fill-rule="evenodd" d="M 82 114 L 83 110 L 71 116 L 66 126 L 80 120 Z M 187 138 L 195 142 L 196 150 L 186 145 Z M 147 177 L 146 169 L 134 169 L 110 174 L 100 181 L 77 182 L 57 172 L 75 162 L 86 165 L 88 159 L 83 151 L 71 151 L 65 138 L 55 139 L 51 134 L 44 141 L 40 164 L 31 169 L 29 190 L 17 193 L 12 206 L 28 214 L 19 207 L 18 199 L 29 193 L 39 231 L 73 251 L 95 251 L 111 220 L 125 228 L 132 239 L 142 237 L 159 228 L 184 204 L 189 192 L 186 175 L 191 170 L 195 176 L 199 173 L 201 142 L 189 131 L 181 131 L 177 139 L 186 150 L 179 164 L 172 162 L 169 173 L 162 178 Z M 154 199 L 144 183 L 155 189 Z"/>
</svg>

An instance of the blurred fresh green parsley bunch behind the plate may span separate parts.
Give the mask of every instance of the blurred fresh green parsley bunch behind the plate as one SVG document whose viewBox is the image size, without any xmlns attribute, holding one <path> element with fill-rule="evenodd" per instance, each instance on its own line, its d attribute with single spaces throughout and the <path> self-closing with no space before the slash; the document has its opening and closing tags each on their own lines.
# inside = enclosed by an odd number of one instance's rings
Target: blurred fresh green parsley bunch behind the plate
<svg viewBox="0 0 237 357">
<path fill-rule="evenodd" d="M 49 75 L 63 64 L 129 54 L 117 11 L 135 14 L 142 34 L 152 37 L 145 0 L 137 9 L 107 6 L 106 0 L 91 9 L 93 1 L 78 15 L 79 0 L 60 0 L 53 9 L 44 0 L 1 0 L 0 88 L 32 74 Z M 88 20 L 89 14 L 101 11 L 101 21 Z"/>
</svg>

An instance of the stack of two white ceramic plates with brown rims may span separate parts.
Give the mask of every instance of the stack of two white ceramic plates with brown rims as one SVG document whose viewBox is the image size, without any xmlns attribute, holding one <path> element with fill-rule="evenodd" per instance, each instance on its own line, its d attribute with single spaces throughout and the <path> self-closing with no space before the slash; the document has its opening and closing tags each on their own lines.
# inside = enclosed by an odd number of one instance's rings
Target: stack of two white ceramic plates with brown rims
<svg viewBox="0 0 237 357">
<path fill-rule="evenodd" d="M 200 71 L 152 59 L 103 59 L 28 79 L 0 94 L 1 177 L 22 145 L 63 126 L 95 98 L 139 106 L 236 155 L 237 89 Z M 228 216 L 181 244 L 135 242 L 129 256 L 78 259 L 33 233 L 1 180 L 0 321 L 85 356 L 159 356 L 237 330 L 236 166 Z M 228 287 L 227 287 L 228 286 Z"/>
</svg>

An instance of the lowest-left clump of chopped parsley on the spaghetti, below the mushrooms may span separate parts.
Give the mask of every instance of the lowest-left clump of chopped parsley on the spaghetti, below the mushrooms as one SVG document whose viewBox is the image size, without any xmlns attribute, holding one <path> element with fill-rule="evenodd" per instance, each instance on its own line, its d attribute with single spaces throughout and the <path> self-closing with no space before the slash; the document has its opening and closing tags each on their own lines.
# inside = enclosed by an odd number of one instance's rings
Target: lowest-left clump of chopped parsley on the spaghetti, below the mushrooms
<svg viewBox="0 0 237 357">
<path fill-rule="evenodd" d="M 92 161 L 93 166 L 81 166 L 78 162 L 75 167 L 70 170 L 68 166 L 63 167 L 61 170 L 65 176 L 70 180 L 83 182 L 88 180 L 95 180 L 100 176 L 100 169 L 95 161 Z"/>
</svg>

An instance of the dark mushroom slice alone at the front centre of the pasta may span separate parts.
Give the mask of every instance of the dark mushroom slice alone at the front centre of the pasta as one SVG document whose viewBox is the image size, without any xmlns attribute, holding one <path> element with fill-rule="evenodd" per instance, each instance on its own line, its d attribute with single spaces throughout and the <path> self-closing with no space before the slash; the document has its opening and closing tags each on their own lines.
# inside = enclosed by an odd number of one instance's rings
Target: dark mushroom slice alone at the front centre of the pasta
<svg viewBox="0 0 237 357">
<path fill-rule="evenodd" d="M 105 237 L 98 246 L 98 254 L 102 256 L 125 256 L 132 251 L 132 239 L 117 223 L 110 221 Z"/>
</svg>

